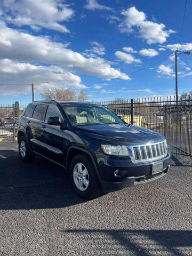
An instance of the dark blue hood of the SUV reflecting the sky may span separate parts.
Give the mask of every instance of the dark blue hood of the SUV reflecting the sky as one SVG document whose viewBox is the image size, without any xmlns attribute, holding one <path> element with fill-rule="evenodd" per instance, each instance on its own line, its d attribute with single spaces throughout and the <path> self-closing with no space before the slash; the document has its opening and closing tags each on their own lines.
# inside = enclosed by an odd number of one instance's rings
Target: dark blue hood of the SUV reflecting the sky
<svg viewBox="0 0 192 256">
<path fill-rule="evenodd" d="M 78 131 L 89 133 L 91 137 L 118 143 L 126 142 L 129 145 L 141 145 L 163 141 L 163 136 L 157 132 L 136 125 L 127 124 L 96 124 L 82 125 Z"/>
</svg>

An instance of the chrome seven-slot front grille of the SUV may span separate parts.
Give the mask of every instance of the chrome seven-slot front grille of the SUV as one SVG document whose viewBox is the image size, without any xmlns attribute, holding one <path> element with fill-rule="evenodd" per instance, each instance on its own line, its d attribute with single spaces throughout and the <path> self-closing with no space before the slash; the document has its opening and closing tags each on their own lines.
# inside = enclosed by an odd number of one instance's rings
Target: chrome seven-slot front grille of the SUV
<svg viewBox="0 0 192 256">
<path fill-rule="evenodd" d="M 132 150 L 133 156 L 131 158 L 134 163 L 155 161 L 167 155 L 167 149 L 164 142 L 133 146 L 129 148 Z"/>
</svg>

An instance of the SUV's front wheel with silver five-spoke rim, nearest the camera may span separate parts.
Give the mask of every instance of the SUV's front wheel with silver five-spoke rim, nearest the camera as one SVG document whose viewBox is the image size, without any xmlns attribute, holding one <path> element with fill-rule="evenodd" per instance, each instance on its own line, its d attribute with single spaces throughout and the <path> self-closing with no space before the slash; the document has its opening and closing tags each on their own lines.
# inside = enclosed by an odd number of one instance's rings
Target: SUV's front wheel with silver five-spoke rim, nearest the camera
<svg viewBox="0 0 192 256">
<path fill-rule="evenodd" d="M 86 154 L 79 154 L 73 158 L 69 172 L 70 180 L 79 197 L 92 199 L 102 193 L 92 161 Z"/>
</svg>

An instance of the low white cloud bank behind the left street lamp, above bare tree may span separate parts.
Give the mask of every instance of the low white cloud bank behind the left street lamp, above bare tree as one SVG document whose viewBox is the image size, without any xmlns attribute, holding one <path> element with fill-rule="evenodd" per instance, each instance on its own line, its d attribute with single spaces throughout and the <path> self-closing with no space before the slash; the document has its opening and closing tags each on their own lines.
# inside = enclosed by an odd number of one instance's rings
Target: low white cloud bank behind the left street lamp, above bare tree
<svg viewBox="0 0 192 256">
<path fill-rule="evenodd" d="M 48 81 L 51 84 L 39 84 L 35 86 L 37 92 L 41 92 L 44 86 L 79 88 L 85 89 L 86 86 L 81 83 L 81 77 L 65 70 L 61 67 L 51 65 L 32 65 L 12 61 L 10 59 L 0 59 L 1 85 L 0 94 L 19 95 L 30 91 L 29 84 L 41 81 Z M 9 87 L 8 87 L 9 86 Z"/>
</svg>

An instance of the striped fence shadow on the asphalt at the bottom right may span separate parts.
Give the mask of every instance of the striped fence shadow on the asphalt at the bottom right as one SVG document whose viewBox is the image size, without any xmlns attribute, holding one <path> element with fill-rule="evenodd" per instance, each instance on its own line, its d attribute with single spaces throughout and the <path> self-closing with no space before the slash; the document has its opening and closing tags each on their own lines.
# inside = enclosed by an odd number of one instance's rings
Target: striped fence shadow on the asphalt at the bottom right
<svg viewBox="0 0 192 256">
<path fill-rule="evenodd" d="M 111 251 L 113 255 L 191 255 L 191 230 L 67 229 L 61 232 L 73 235 L 74 244 L 80 236 L 89 236 L 91 255 L 95 247 L 98 255 L 111 255 Z"/>
</svg>

